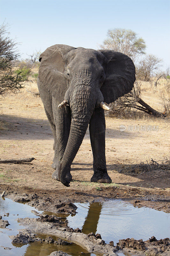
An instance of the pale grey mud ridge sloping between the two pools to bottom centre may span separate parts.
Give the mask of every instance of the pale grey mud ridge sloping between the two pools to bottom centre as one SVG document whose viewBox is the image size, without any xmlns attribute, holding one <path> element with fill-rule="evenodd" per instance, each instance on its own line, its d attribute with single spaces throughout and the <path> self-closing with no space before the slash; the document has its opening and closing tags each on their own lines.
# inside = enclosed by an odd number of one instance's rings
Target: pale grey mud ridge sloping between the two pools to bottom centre
<svg viewBox="0 0 170 256">
<path fill-rule="evenodd" d="M 48 218 L 42 214 L 40 214 L 40 218 L 24 218 L 24 219 L 17 219 L 18 222 L 25 226 L 26 229 L 30 230 L 34 233 L 41 233 L 41 234 L 49 234 L 55 235 L 61 239 L 65 239 L 69 242 L 75 243 L 80 245 L 82 248 L 87 250 L 88 252 L 93 253 L 101 253 L 101 254 L 109 254 L 109 255 L 116 255 L 115 252 L 117 248 L 115 246 L 111 246 L 110 244 L 106 244 L 104 240 L 102 240 L 99 234 L 95 235 L 93 233 L 85 235 L 81 232 L 79 228 L 72 229 L 67 226 L 67 221 L 60 222 L 49 222 L 49 218 L 54 218 L 55 216 L 48 216 Z M 25 230 L 22 230 L 22 233 Z"/>
</svg>

